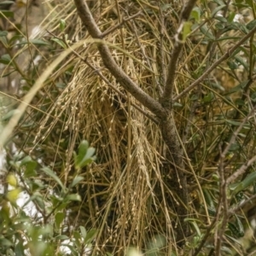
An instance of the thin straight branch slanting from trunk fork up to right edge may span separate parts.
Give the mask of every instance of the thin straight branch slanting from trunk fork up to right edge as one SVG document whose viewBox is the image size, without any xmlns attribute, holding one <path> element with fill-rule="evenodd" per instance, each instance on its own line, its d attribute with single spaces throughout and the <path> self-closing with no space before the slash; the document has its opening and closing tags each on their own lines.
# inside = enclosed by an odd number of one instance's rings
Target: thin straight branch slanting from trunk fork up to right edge
<svg viewBox="0 0 256 256">
<path fill-rule="evenodd" d="M 218 65 L 219 65 L 221 62 L 223 62 L 223 61 L 229 59 L 230 55 L 232 55 L 232 54 L 235 52 L 235 50 L 236 50 L 239 46 L 241 46 L 241 44 L 245 43 L 245 42 L 247 41 L 247 39 L 250 38 L 250 37 L 253 35 L 253 33 L 255 33 L 255 32 L 256 32 L 256 26 L 255 26 L 250 32 L 248 32 L 246 36 L 244 36 L 243 38 L 241 38 L 241 40 L 238 41 L 238 43 L 236 43 L 232 48 L 230 48 L 221 58 L 219 58 L 218 61 L 215 61 L 215 62 L 212 64 L 212 66 L 209 67 L 209 68 L 205 71 L 205 73 L 203 73 L 203 74 L 201 75 L 201 77 L 200 77 L 199 79 L 196 79 L 194 83 L 190 84 L 189 87 L 187 87 L 187 88 L 184 89 L 179 95 L 177 95 L 176 97 L 174 97 L 174 98 L 173 98 L 173 102 L 177 102 L 178 99 L 180 99 L 182 96 L 186 95 L 190 90 L 193 90 L 197 84 L 200 84 L 200 83 L 208 76 L 208 74 L 211 73 L 212 70 L 215 69 L 215 67 L 218 67 Z"/>
</svg>

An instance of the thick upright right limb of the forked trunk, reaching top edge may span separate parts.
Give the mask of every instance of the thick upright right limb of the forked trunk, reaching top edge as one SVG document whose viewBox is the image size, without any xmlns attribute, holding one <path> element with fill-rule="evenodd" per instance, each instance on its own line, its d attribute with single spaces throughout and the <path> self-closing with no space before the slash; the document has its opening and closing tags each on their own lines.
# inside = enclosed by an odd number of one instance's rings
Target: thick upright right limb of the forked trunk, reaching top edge
<svg viewBox="0 0 256 256">
<path fill-rule="evenodd" d="M 166 79 L 165 90 L 162 96 L 162 105 L 168 107 L 171 104 L 171 97 L 175 79 L 175 73 L 177 70 L 178 57 L 183 49 L 183 26 L 184 23 L 189 20 L 189 15 L 191 10 L 195 5 L 196 0 L 189 0 L 183 7 L 182 13 L 180 15 L 180 22 L 177 29 L 177 34 L 175 35 L 175 44 L 172 49 L 171 61 L 168 67 L 168 74 Z"/>
</svg>

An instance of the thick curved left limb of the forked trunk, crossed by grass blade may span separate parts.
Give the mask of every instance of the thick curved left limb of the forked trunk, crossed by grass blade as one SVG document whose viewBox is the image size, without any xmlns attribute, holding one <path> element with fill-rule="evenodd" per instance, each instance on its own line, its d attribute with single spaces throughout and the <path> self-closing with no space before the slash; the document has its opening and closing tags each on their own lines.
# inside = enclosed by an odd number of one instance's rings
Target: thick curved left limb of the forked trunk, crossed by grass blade
<svg viewBox="0 0 256 256">
<path fill-rule="evenodd" d="M 101 30 L 96 25 L 95 20 L 90 14 L 90 9 L 84 0 L 74 0 L 74 3 L 77 7 L 79 17 L 81 18 L 84 26 L 90 33 L 92 38 L 102 39 Z M 108 68 L 109 72 L 113 74 L 113 77 L 117 79 L 117 81 L 125 88 L 125 90 L 129 91 L 132 96 L 134 96 L 138 102 L 141 102 L 143 106 L 148 108 L 151 112 L 153 112 L 159 118 L 166 117 L 166 111 L 161 107 L 160 103 L 155 101 L 151 96 L 148 96 L 141 88 L 138 87 L 119 67 L 119 65 L 113 60 L 113 56 L 108 49 L 108 46 L 103 43 L 99 43 L 97 45 L 98 50 L 102 56 L 102 61 L 105 67 Z"/>
</svg>

